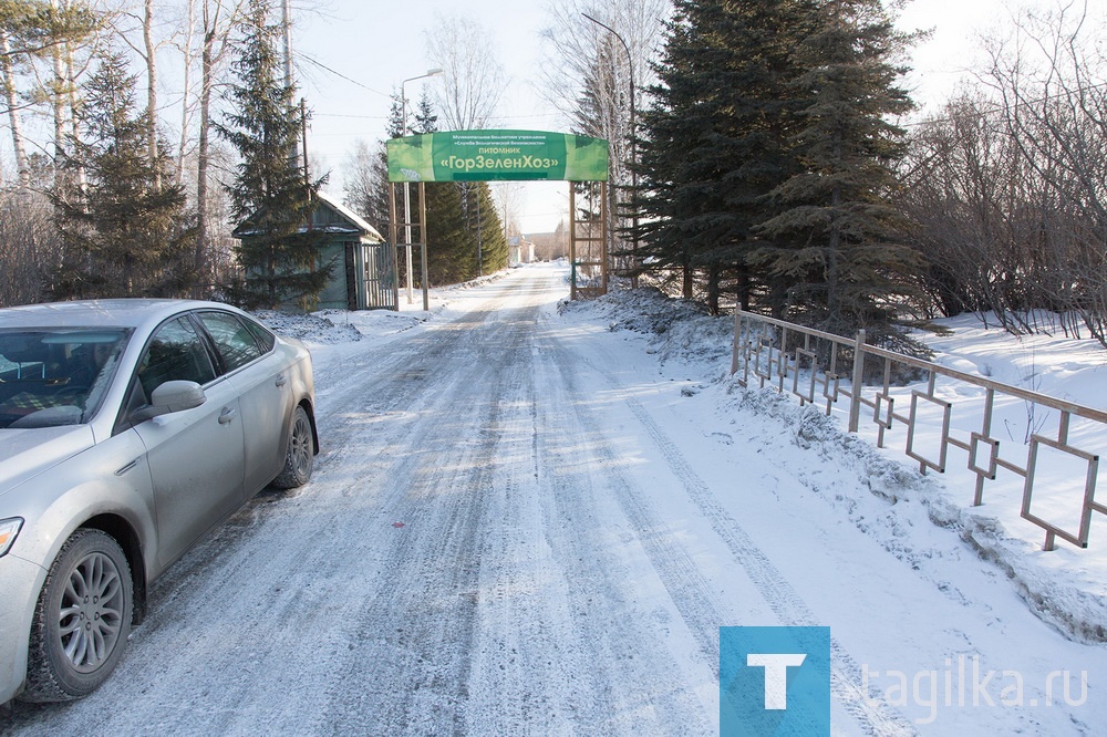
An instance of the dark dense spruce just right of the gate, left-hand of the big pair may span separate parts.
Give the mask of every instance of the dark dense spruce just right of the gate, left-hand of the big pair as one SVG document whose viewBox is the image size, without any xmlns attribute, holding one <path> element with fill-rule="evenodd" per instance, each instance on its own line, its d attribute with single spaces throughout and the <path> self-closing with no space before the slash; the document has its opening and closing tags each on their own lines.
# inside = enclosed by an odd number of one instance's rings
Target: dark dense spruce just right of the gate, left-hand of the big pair
<svg viewBox="0 0 1107 737">
<path fill-rule="evenodd" d="M 677 0 L 656 65 L 640 147 L 645 255 L 699 281 L 712 312 L 724 292 L 744 307 L 767 279 L 749 262 L 767 195 L 798 170 L 790 152 L 800 70 L 793 50 L 815 0 Z"/>
</svg>

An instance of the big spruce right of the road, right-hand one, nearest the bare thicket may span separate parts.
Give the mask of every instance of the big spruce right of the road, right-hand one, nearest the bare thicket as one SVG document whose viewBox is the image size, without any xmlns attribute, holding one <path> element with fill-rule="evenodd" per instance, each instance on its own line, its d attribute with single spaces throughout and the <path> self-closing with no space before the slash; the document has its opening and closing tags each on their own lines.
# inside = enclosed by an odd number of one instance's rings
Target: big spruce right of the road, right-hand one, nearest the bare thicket
<svg viewBox="0 0 1107 737">
<path fill-rule="evenodd" d="M 755 261 L 788 284 L 773 304 L 830 332 L 893 333 L 897 298 L 921 267 L 892 204 L 903 131 L 889 116 L 911 110 L 894 60 L 911 37 L 880 0 L 824 0 L 818 27 L 796 48 L 806 98 L 794 144 L 803 167 L 776 187 L 780 208 L 759 227 L 769 241 Z"/>
</svg>

